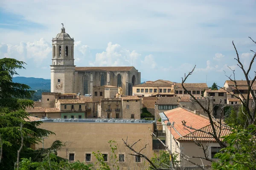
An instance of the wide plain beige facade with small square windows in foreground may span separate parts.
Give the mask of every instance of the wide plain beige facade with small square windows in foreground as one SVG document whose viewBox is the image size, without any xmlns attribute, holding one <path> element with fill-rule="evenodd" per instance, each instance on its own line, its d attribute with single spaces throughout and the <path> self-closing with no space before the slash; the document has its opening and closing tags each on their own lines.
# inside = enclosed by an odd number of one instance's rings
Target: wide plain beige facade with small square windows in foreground
<svg viewBox="0 0 256 170">
<path fill-rule="evenodd" d="M 128 144 L 133 144 L 141 139 L 134 145 L 134 149 L 139 151 L 147 144 L 142 153 L 151 158 L 154 150 L 152 150 L 151 131 L 148 128 L 154 129 L 153 121 L 127 123 L 100 122 L 100 119 L 95 120 L 99 122 L 68 122 L 67 119 L 56 121 L 58 120 L 43 120 L 39 128 L 50 130 L 56 134 L 44 139 L 44 148 L 50 147 L 55 140 L 60 140 L 65 144 L 61 150 L 58 150 L 58 156 L 69 159 L 71 162 L 81 161 L 85 164 L 92 164 L 96 161 L 93 152 L 99 150 L 99 153 L 106 154 L 105 162 L 111 165 L 112 152 L 108 142 L 114 140 L 116 141 L 116 156 L 120 169 L 148 169 L 149 165 L 145 159 L 136 159 L 136 156 L 129 155 L 134 152 L 125 147 L 122 139 L 127 139 Z M 42 143 L 35 144 L 35 149 L 42 147 Z M 119 159 L 120 155 L 123 158 L 121 160 Z"/>
</svg>

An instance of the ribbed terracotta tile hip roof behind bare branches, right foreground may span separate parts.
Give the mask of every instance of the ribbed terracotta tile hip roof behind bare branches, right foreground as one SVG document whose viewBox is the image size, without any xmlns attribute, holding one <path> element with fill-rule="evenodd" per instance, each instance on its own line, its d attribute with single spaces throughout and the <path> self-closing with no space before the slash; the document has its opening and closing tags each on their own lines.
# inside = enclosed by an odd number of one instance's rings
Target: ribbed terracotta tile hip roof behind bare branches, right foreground
<svg viewBox="0 0 256 170">
<path fill-rule="evenodd" d="M 215 129 L 216 129 L 216 133 L 218 134 L 220 132 L 220 128 L 219 128 L 219 125 L 215 125 L 214 126 Z M 190 129 L 189 129 L 190 130 Z M 210 132 L 210 133 L 213 133 L 213 130 L 212 130 L 212 126 L 211 125 L 207 125 L 206 127 L 203 127 L 201 128 L 200 130 L 203 130 L 205 132 Z M 231 131 L 228 130 L 227 128 L 221 126 L 221 135 L 220 136 L 226 136 L 228 134 L 230 134 Z M 202 142 L 215 142 L 216 140 L 212 137 L 212 135 L 208 134 L 208 133 L 204 133 L 204 132 L 201 132 L 199 130 L 196 130 L 192 133 L 189 133 L 183 137 L 180 137 L 179 139 L 177 139 L 178 141 L 193 141 L 193 140 L 196 140 L 196 141 L 202 141 Z M 223 140 L 221 138 L 221 140 Z"/>
</svg>

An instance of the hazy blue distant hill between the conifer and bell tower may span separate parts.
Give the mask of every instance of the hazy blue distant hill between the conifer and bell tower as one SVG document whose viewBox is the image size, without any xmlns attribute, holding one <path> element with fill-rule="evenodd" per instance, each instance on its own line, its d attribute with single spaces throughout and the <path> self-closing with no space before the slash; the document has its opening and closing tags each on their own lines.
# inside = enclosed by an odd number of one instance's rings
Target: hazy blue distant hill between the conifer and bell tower
<svg viewBox="0 0 256 170">
<path fill-rule="evenodd" d="M 32 90 L 50 90 L 51 79 L 42 79 L 35 77 L 13 77 L 13 82 L 29 85 Z"/>
</svg>

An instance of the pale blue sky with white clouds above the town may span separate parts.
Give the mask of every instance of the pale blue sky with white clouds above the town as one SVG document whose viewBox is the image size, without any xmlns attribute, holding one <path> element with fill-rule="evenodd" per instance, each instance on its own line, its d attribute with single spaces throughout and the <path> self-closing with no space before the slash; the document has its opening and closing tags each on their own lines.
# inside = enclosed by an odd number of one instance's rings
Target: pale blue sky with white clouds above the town
<svg viewBox="0 0 256 170">
<path fill-rule="evenodd" d="M 26 62 L 20 76 L 50 79 L 51 40 L 64 23 L 76 66 L 134 66 L 143 81 L 181 82 L 196 65 L 186 82 L 223 86 L 230 68 L 245 79 L 232 41 L 247 68 L 255 8 L 255 0 L 1 0 L 0 58 Z"/>
</svg>

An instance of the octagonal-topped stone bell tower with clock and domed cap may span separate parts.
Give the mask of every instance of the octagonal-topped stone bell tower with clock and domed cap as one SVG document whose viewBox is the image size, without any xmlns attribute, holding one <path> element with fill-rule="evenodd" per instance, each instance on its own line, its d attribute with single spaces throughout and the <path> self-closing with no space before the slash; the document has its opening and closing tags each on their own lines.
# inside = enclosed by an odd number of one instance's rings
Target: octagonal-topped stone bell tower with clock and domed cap
<svg viewBox="0 0 256 170">
<path fill-rule="evenodd" d="M 75 65 L 74 39 L 65 32 L 62 24 L 61 32 L 52 38 L 51 92 L 74 93 Z"/>
</svg>

